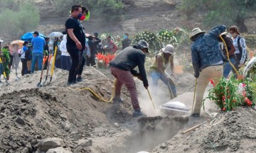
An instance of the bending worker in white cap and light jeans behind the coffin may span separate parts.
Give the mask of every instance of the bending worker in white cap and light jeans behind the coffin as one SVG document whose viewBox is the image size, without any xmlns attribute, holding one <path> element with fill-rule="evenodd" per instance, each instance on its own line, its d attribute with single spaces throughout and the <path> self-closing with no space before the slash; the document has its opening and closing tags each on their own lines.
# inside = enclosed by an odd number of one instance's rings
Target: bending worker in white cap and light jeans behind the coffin
<svg viewBox="0 0 256 153">
<path fill-rule="evenodd" d="M 158 81 L 161 81 L 166 84 L 167 88 L 170 91 L 170 97 L 175 98 L 176 94 L 176 86 L 174 84 L 173 79 L 166 73 L 166 67 L 168 64 L 171 64 L 171 72 L 174 73 L 174 46 L 166 45 L 166 47 L 162 48 L 159 51 L 159 54 L 156 55 L 153 64 L 149 67 L 150 75 L 152 78 L 152 86 L 155 90 L 154 93 L 157 92 Z"/>
</svg>

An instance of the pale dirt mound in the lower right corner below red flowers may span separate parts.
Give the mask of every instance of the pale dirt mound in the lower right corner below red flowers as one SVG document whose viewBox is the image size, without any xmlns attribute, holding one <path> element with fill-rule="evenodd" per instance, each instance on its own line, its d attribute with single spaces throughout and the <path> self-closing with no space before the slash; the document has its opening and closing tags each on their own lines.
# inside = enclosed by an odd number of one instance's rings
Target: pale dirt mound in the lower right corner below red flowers
<svg viewBox="0 0 256 153">
<path fill-rule="evenodd" d="M 237 111 L 218 114 L 185 135 L 178 133 L 159 145 L 154 152 L 255 152 L 256 111 L 238 108 Z"/>
</svg>

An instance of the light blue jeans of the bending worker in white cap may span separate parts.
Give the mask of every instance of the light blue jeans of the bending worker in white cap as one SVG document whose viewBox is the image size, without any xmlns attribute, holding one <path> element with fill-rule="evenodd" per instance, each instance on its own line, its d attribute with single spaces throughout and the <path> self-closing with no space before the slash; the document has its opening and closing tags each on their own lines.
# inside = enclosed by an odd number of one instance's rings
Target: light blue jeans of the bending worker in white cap
<svg viewBox="0 0 256 153">
<path fill-rule="evenodd" d="M 150 75 L 152 78 L 151 85 L 153 86 L 154 89 L 156 89 L 156 87 L 158 86 L 158 80 L 161 79 L 161 81 L 163 81 L 164 84 L 166 84 L 166 86 L 168 88 L 169 88 L 169 84 L 170 84 L 171 91 L 174 94 L 174 97 L 177 96 L 176 86 L 174 84 L 174 81 L 170 81 L 171 77 L 168 74 L 161 74 L 160 72 L 150 72 Z M 168 81 L 169 81 L 169 83 L 168 83 Z"/>
</svg>

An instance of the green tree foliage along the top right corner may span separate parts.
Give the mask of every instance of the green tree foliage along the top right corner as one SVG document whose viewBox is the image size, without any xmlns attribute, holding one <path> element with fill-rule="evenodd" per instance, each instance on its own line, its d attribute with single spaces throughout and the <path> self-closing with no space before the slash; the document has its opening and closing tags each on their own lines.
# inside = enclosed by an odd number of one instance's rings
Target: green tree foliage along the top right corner
<svg viewBox="0 0 256 153">
<path fill-rule="evenodd" d="M 207 28 L 216 24 L 238 26 L 241 32 L 247 32 L 245 21 L 255 16 L 255 0 L 182 0 L 180 9 L 186 17 L 195 13 L 203 14 L 203 25 Z"/>
</svg>

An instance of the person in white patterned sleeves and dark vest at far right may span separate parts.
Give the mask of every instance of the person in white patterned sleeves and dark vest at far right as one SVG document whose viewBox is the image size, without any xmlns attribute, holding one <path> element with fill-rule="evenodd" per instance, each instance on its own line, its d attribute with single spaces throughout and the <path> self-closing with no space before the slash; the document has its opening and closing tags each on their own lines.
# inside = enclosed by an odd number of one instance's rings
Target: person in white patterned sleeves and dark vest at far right
<svg viewBox="0 0 256 153">
<path fill-rule="evenodd" d="M 232 36 L 233 45 L 235 46 L 235 56 L 236 56 L 235 68 L 238 70 L 240 68 L 239 65 L 240 64 L 245 64 L 245 62 L 247 60 L 247 51 L 246 51 L 245 38 L 243 38 L 240 35 L 237 26 L 231 26 L 228 29 L 228 31 Z M 233 70 L 233 73 L 235 74 L 234 70 Z M 236 76 L 236 74 L 235 74 L 235 76 Z"/>
</svg>

